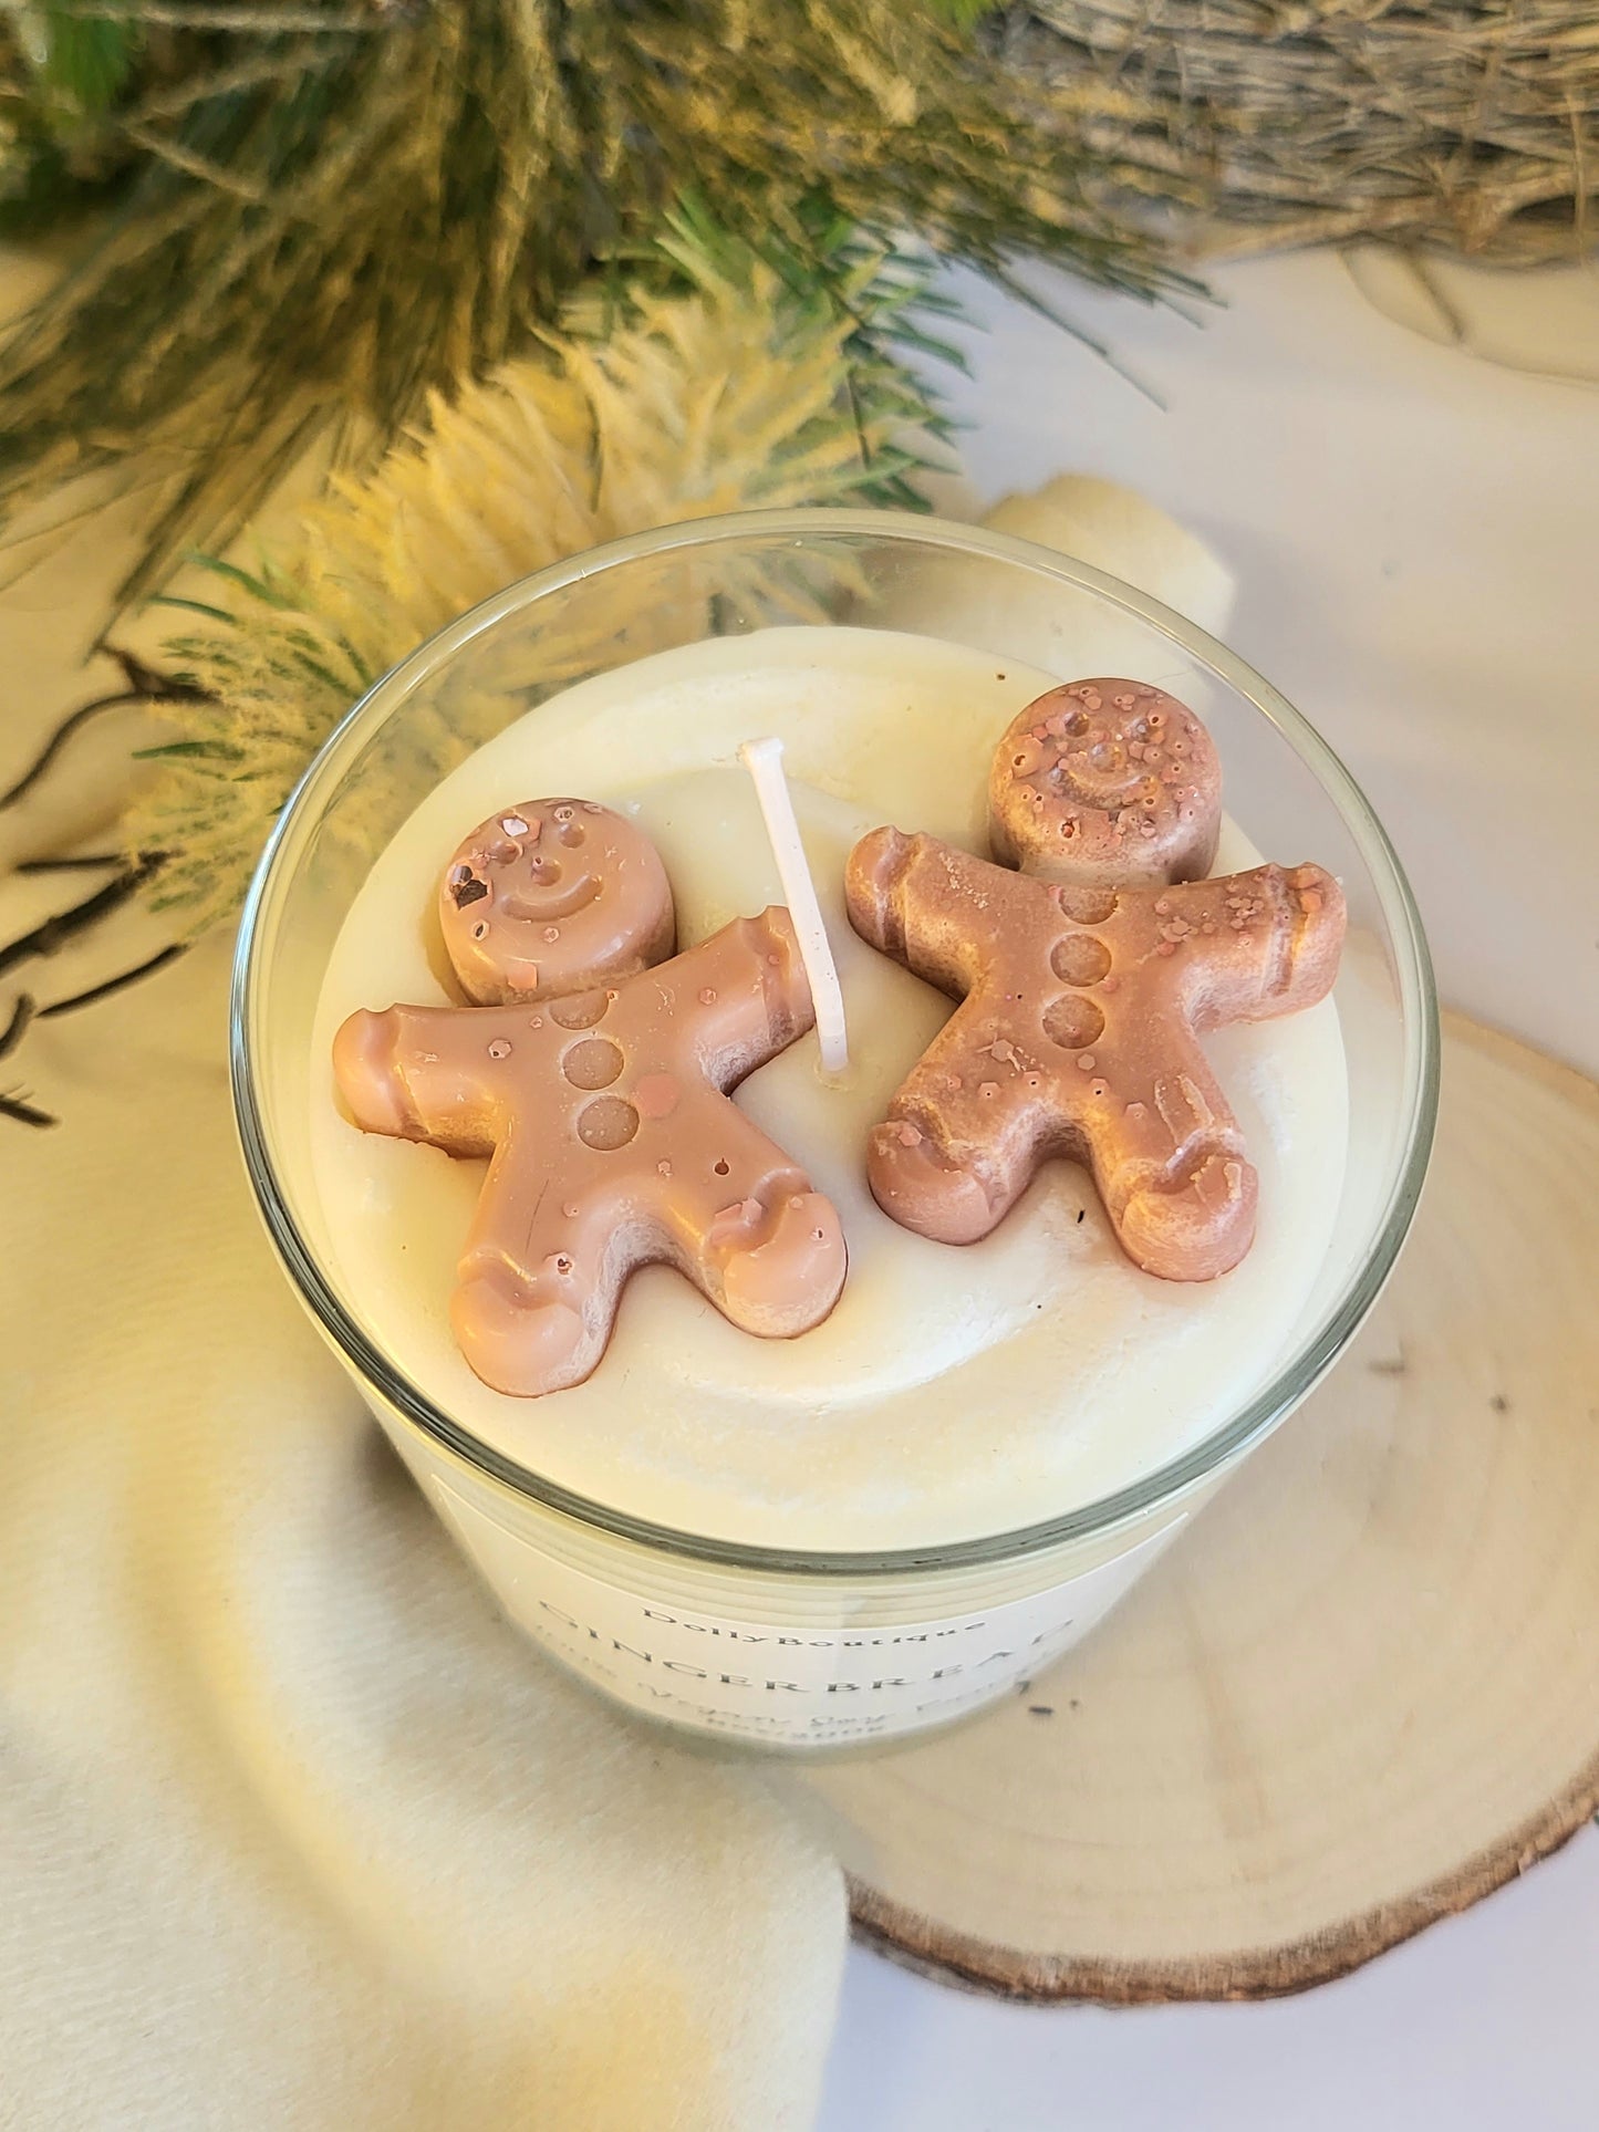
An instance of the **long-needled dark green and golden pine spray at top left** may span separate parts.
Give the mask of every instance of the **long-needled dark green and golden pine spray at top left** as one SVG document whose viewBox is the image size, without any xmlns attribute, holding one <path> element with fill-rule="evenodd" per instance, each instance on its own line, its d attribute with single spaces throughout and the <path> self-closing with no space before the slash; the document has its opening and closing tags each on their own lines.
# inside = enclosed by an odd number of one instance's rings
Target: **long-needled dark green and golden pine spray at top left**
<svg viewBox="0 0 1599 2132">
<path fill-rule="evenodd" d="M 64 4 L 64 0 L 58 0 Z M 0 348 L 0 518 L 166 475 L 132 580 L 220 546 L 313 437 L 371 463 L 429 394 L 524 352 L 697 185 L 825 281 L 817 230 L 917 230 L 1006 273 L 1151 292 L 1083 126 L 1117 102 L 998 66 L 921 0 L 70 0 L 147 30 L 104 115 L 115 209 Z"/>
</svg>

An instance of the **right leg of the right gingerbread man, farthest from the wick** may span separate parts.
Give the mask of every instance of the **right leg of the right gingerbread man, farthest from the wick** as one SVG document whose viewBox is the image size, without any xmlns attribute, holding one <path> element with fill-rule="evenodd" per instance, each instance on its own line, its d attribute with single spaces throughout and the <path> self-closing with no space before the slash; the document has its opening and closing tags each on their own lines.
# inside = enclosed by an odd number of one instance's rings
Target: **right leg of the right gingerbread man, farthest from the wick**
<svg viewBox="0 0 1599 2132">
<path fill-rule="evenodd" d="M 1198 1045 L 1147 1087 L 1083 1115 L 1087 1158 L 1128 1258 L 1166 1281 L 1211 1281 L 1245 1256 L 1260 1179 Z"/>
</svg>

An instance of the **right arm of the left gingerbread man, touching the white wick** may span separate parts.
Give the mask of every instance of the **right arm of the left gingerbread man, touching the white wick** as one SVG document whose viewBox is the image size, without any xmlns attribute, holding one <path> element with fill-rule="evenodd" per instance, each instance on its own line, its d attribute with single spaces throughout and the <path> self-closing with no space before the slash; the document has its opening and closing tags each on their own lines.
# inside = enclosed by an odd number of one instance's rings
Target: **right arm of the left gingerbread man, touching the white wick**
<svg viewBox="0 0 1599 2132">
<path fill-rule="evenodd" d="M 736 1087 L 817 1021 L 800 940 L 780 904 L 733 919 L 644 983 L 669 985 L 699 1064 L 721 1089 Z"/>
</svg>

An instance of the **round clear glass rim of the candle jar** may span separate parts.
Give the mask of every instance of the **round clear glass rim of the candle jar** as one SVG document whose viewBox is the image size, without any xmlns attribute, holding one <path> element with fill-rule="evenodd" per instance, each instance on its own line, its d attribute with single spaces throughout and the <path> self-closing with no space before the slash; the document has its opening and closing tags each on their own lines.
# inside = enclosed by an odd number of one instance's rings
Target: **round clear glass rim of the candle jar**
<svg viewBox="0 0 1599 2132">
<path fill-rule="evenodd" d="M 923 546 L 947 554 L 974 554 L 991 563 L 1019 565 L 1036 578 L 1053 580 L 1064 588 L 1094 593 L 1134 620 L 1164 631 L 1190 659 L 1251 704 L 1311 770 L 1322 791 L 1339 810 L 1345 829 L 1371 872 L 1384 919 L 1392 934 L 1405 1030 L 1403 1134 L 1382 1220 L 1332 1305 L 1294 1354 L 1277 1367 L 1271 1379 L 1230 1420 L 1222 1422 L 1198 1443 L 1192 1443 L 1177 1458 L 1143 1473 L 1111 1495 L 1034 1524 L 1013 1527 L 1004 1533 L 985 1533 L 974 1539 L 938 1541 L 925 1548 L 778 1548 L 687 1533 L 582 1497 L 484 1443 L 397 1371 L 337 1296 L 318 1256 L 301 1234 L 279 1183 L 254 1070 L 254 1028 L 264 983 L 260 953 L 262 923 L 292 878 L 286 870 L 292 831 L 307 810 L 318 808 L 322 795 L 343 776 L 350 757 L 369 742 L 418 682 L 437 672 L 443 661 L 452 659 L 475 635 L 492 629 L 507 616 L 569 584 L 597 578 L 644 556 L 761 537 L 793 537 L 795 544 L 804 544 L 806 539 L 834 539 L 840 535 L 857 544 L 878 542 Z M 1147 1512 L 1177 1503 L 1249 1450 L 1326 1375 L 1358 1330 L 1399 1258 L 1420 1200 L 1437 1124 L 1439 1043 L 1433 962 L 1416 898 L 1399 863 L 1399 855 L 1339 755 L 1322 740 L 1303 712 L 1294 710 L 1281 691 L 1273 689 L 1254 667 L 1173 608 L 1075 556 L 949 518 L 849 507 L 733 512 L 716 518 L 691 518 L 657 527 L 648 533 L 631 533 L 599 548 L 586 548 L 529 578 L 518 578 L 505 591 L 484 599 L 407 652 L 339 721 L 279 810 L 239 919 L 228 1013 L 228 1066 L 235 1121 L 266 1232 L 324 1335 L 356 1375 L 382 1396 L 386 1407 L 401 1414 L 405 1422 L 420 1428 L 437 1445 L 465 1458 L 480 1473 L 578 1524 L 699 1563 L 770 1576 L 812 1578 L 983 1567 L 1028 1554 L 1043 1554 L 1077 1539 L 1100 1539 Z"/>
</svg>

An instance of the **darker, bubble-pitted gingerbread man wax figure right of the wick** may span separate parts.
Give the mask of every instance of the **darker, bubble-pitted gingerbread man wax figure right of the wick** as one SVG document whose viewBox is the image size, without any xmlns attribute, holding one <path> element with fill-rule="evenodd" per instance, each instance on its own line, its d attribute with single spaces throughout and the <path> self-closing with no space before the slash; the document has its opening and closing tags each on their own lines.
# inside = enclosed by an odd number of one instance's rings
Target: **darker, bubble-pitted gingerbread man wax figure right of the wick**
<svg viewBox="0 0 1599 2132">
<path fill-rule="evenodd" d="M 1200 721 L 1145 682 L 1085 680 L 1030 704 L 994 755 L 1008 863 L 898 829 L 855 846 L 855 930 L 962 1002 L 872 1134 L 885 1213 L 974 1243 L 1064 1156 L 1145 1273 L 1239 1264 L 1258 1177 L 1198 1038 L 1330 991 L 1343 891 L 1320 866 L 1202 878 L 1220 823 Z"/>
</svg>

